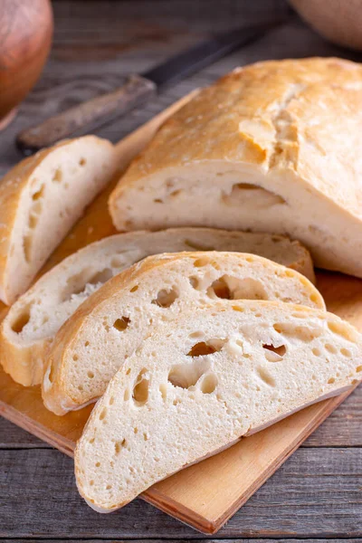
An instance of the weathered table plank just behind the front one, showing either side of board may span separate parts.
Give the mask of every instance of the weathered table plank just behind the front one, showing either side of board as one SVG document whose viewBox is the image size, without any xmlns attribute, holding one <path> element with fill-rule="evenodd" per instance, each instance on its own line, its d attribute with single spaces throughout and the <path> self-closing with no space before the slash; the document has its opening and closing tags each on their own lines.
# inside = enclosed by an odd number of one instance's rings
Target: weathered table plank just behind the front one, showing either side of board
<svg viewBox="0 0 362 543">
<path fill-rule="evenodd" d="M 302 447 L 361 447 L 361 428 L 362 386 L 359 386 Z M 49 448 L 49 445 L 0 417 L 0 449 L 9 448 Z"/>
</svg>

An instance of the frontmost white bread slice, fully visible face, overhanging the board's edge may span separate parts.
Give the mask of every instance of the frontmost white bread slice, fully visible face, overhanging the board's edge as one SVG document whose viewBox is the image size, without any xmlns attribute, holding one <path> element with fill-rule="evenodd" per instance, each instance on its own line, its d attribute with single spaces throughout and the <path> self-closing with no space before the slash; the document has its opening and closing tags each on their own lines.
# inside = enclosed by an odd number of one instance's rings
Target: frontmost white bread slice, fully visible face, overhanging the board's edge
<svg viewBox="0 0 362 543">
<path fill-rule="evenodd" d="M 110 512 L 157 481 L 362 378 L 362 337 L 272 301 L 180 313 L 110 381 L 75 451 L 78 489 Z"/>
</svg>

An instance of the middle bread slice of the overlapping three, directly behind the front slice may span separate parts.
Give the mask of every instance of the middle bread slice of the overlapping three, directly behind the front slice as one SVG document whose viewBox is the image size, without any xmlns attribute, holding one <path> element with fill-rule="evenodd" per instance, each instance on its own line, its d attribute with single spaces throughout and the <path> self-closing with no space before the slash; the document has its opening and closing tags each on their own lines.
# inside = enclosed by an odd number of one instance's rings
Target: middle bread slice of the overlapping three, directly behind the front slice
<svg viewBox="0 0 362 543">
<path fill-rule="evenodd" d="M 44 405 L 65 414 L 94 401 L 152 327 L 219 299 L 325 308 L 319 291 L 303 275 L 256 255 L 150 256 L 103 285 L 60 329 L 43 379 Z"/>
</svg>

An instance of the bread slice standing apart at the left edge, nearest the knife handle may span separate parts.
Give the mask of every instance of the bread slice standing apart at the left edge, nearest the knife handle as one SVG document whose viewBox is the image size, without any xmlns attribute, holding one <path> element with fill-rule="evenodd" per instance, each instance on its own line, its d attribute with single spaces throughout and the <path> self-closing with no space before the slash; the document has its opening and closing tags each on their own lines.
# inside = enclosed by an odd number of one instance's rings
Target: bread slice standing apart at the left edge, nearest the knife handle
<svg viewBox="0 0 362 543">
<path fill-rule="evenodd" d="M 0 299 L 10 304 L 115 174 L 106 139 L 64 140 L 25 158 L 0 181 Z"/>
</svg>

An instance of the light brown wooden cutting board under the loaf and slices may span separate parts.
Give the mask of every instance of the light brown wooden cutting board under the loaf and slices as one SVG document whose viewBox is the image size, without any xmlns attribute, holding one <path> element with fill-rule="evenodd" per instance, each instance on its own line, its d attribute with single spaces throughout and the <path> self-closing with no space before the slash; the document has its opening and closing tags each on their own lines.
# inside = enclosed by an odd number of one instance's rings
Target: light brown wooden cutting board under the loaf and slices
<svg viewBox="0 0 362 543">
<path fill-rule="evenodd" d="M 179 100 L 119 142 L 119 171 L 152 138 L 160 123 L 191 96 Z M 115 233 L 107 211 L 112 186 L 90 205 L 43 271 L 80 247 Z M 320 272 L 318 287 L 330 311 L 362 330 L 362 281 Z M 5 306 L 1 305 L 0 310 L 4 316 Z M 346 397 L 345 394 L 311 405 L 263 432 L 243 438 L 230 449 L 158 482 L 142 498 L 195 529 L 213 534 Z M 24 388 L 0 370 L 0 414 L 70 456 L 90 411 L 88 406 L 56 416 L 43 407 L 39 386 Z"/>
</svg>

